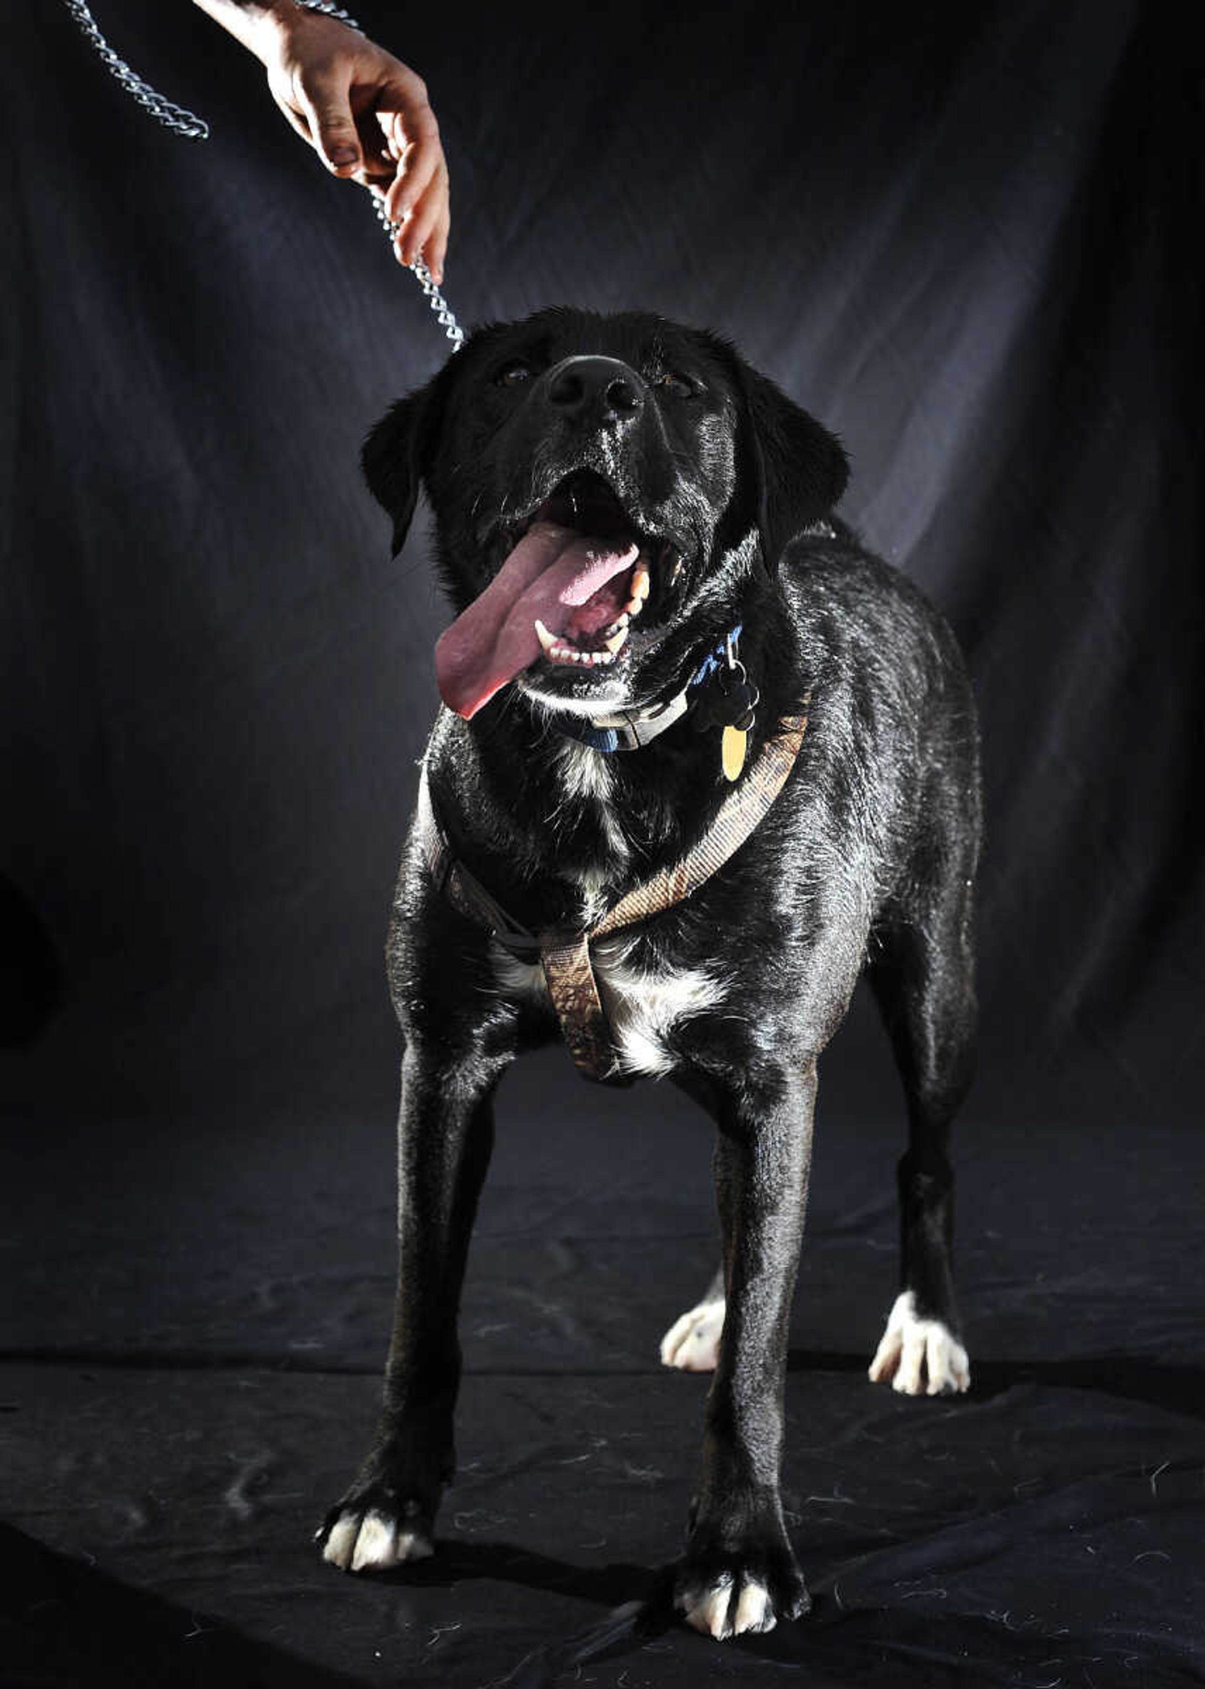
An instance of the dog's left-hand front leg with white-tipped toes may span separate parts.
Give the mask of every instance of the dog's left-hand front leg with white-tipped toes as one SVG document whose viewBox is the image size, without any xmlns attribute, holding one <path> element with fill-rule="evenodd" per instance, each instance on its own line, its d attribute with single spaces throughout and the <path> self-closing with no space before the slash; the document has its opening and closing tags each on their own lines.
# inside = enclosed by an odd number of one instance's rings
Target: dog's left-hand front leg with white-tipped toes
<svg viewBox="0 0 1205 1689">
<path fill-rule="evenodd" d="M 318 1532 L 323 1559 L 380 1571 L 433 1552 L 455 1468 L 456 1314 L 477 1198 L 493 1143 L 499 1062 L 436 1064 L 411 1045 L 397 1133 L 399 1272 L 380 1426 Z"/>
</svg>

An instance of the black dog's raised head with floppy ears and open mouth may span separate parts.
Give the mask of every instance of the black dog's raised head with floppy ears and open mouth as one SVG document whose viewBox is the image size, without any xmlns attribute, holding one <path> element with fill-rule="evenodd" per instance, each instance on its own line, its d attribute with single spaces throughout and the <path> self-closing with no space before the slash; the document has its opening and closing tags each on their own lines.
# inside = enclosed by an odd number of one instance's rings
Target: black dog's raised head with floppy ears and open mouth
<svg viewBox="0 0 1205 1689">
<path fill-rule="evenodd" d="M 426 486 L 460 613 L 436 671 L 463 716 L 510 681 L 585 716 L 674 691 L 847 478 L 727 341 L 585 311 L 478 329 L 377 424 L 363 470 L 395 549 Z"/>
</svg>

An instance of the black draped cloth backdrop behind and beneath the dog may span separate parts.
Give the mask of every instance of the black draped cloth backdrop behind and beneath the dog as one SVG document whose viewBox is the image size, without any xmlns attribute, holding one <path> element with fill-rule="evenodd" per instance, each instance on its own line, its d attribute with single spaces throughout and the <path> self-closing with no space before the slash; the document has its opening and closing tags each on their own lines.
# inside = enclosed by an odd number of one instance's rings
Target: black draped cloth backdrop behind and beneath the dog
<svg viewBox="0 0 1205 1689">
<path fill-rule="evenodd" d="M 1188 1681 L 1190 37 L 1131 0 L 360 15 L 431 86 L 463 319 L 573 301 L 732 334 L 845 439 L 843 513 L 950 615 L 984 720 L 977 1390 L 950 1412 L 859 1377 L 892 1294 L 899 1108 L 857 1005 L 825 1062 L 789 1380 L 818 1616 L 727 1654 L 617 1642 L 585 1670 Z M 161 132 L 63 8 L 7 14 L 12 1635 L 37 1681 L 485 1682 L 647 1594 L 674 1551 L 700 1393 L 657 1373 L 656 1338 L 715 1246 L 708 1137 L 666 1088 L 615 1110 L 561 1052 L 507 1081 L 450 1569 L 314 1567 L 304 1530 L 384 1348 L 380 946 L 443 622 L 421 524 L 390 562 L 355 459 L 443 343 L 250 57 L 184 5 L 106 0 L 100 22 L 213 137 Z M 647 1459 L 598 1453 L 646 1432 Z"/>
</svg>

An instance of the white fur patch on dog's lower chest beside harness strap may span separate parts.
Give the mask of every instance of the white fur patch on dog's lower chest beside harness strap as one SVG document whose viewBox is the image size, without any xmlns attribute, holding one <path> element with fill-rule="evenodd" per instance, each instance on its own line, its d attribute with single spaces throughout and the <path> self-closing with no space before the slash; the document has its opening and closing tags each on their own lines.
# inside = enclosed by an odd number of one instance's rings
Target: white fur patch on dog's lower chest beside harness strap
<svg viewBox="0 0 1205 1689">
<path fill-rule="evenodd" d="M 723 985 L 703 968 L 652 969 L 627 966 L 630 939 L 622 934 L 592 946 L 598 993 L 607 1010 L 619 1066 L 652 1078 L 673 1073 L 676 1057 L 666 1034 L 679 1020 L 713 1008 Z M 493 969 L 504 990 L 548 1002 L 539 963 L 519 961 L 495 946 Z"/>
</svg>

